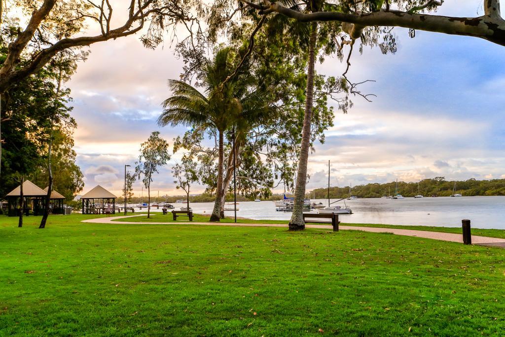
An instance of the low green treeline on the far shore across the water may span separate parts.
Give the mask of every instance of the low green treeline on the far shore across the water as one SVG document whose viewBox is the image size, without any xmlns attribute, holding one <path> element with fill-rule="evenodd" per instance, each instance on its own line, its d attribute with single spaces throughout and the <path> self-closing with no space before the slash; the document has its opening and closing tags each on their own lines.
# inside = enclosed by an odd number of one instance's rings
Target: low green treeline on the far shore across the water
<svg viewBox="0 0 505 337">
<path fill-rule="evenodd" d="M 419 182 L 419 192 L 417 182 L 398 181 L 398 193 L 403 197 L 414 197 L 418 194 L 424 197 L 438 196 L 448 197 L 453 194 L 452 189 L 455 181 L 447 181 L 445 177 L 435 177 L 424 179 Z M 396 182 L 384 184 L 370 183 L 366 185 L 352 186 L 352 195 L 358 198 L 380 198 L 394 195 Z M 505 179 L 476 180 L 468 179 L 456 181 L 456 191 L 464 197 L 469 196 L 505 196 Z M 328 195 L 328 188 L 317 188 L 307 194 L 307 198 L 325 199 Z M 330 187 L 330 198 L 339 199 L 349 196 L 349 186 Z"/>
</svg>

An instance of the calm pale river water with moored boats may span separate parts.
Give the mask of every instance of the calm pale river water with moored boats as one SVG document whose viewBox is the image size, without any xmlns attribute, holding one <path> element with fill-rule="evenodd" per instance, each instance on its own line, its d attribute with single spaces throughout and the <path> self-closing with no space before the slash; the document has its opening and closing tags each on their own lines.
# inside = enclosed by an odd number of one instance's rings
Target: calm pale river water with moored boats
<svg viewBox="0 0 505 337">
<path fill-rule="evenodd" d="M 327 205 L 327 200 L 312 200 Z M 333 201 L 333 200 L 332 200 Z M 459 227 L 462 219 L 472 220 L 478 228 L 505 229 L 505 197 L 439 197 L 346 200 L 353 214 L 340 215 L 340 221 L 349 223 L 380 223 L 394 225 L 426 225 Z M 172 204 L 178 209 L 182 204 Z M 335 205 L 335 204 L 334 204 Z M 336 205 L 343 205 L 339 202 Z M 185 205 L 184 205 L 185 206 Z M 212 213 L 213 203 L 191 204 L 193 212 Z M 240 202 L 237 216 L 251 219 L 289 220 L 290 212 L 275 211 L 274 203 Z M 159 211 L 154 209 L 154 211 Z M 315 211 L 314 211 L 315 212 Z M 225 214 L 233 216 L 233 212 Z"/>
</svg>

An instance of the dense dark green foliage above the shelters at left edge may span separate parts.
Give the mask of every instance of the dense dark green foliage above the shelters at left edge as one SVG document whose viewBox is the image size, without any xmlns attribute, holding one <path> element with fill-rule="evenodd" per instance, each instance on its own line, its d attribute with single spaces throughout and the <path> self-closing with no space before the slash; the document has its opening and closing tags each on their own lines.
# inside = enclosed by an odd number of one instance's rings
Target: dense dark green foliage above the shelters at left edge
<svg viewBox="0 0 505 337">
<path fill-rule="evenodd" d="M 5 57 L 4 46 L 2 61 Z M 24 62 L 23 59 L 21 67 Z M 67 63 L 66 60 L 62 62 Z M 66 65 L 69 67 L 68 73 L 72 72 L 71 64 Z M 34 76 L 11 86 L 2 95 L 0 195 L 5 195 L 18 184 L 14 178 L 16 173 L 23 174 L 39 186 L 47 185 L 47 147 L 50 137 L 53 138 L 51 162 L 54 188 L 68 200 L 82 190 L 83 175 L 75 163 L 76 153 L 73 150 L 73 130 L 77 124 L 70 115 L 70 89 L 63 88 L 59 95 L 55 95 L 55 79 L 58 76 L 56 63 L 49 63 Z"/>
</svg>

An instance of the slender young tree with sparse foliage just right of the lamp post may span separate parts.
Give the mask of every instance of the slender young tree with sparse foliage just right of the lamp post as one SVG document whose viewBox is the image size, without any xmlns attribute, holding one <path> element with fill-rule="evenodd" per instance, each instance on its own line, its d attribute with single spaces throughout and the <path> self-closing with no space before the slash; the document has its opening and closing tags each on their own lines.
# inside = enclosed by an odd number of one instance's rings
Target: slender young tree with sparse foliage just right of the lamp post
<svg viewBox="0 0 505 337">
<path fill-rule="evenodd" d="M 158 173 L 159 168 L 166 165 L 170 160 L 168 153 L 168 142 L 160 137 L 160 132 L 155 131 L 149 135 L 146 141 L 140 145 L 140 156 L 135 163 L 135 175 L 147 188 L 147 217 L 150 216 L 151 209 L 151 182 L 153 174 Z"/>
</svg>

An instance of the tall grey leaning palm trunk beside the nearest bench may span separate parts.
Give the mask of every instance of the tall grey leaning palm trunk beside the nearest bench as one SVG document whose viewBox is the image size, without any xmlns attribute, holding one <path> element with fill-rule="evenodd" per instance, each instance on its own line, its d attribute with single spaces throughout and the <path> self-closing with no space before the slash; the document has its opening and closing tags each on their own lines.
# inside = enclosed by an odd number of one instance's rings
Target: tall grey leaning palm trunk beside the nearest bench
<svg viewBox="0 0 505 337">
<path fill-rule="evenodd" d="M 307 92 L 305 101 L 304 127 L 301 131 L 300 158 L 298 161 L 298 172 L 296 176 L 296 187 L 294 190 L 293 214 L 289 221 L 289 230 L 305 229 L 304 221 L 304 199 L 305 184 L 307 181 L 307 162 L 309 161 L 309 147 L 311 137 L 312 120 L 312 98 L 314 95 L 314 63 L 317 40 L 317 23 L 312 23 L 311 36 L 309 40 L 309 65 L 307 69 Z"/>
</svg>

